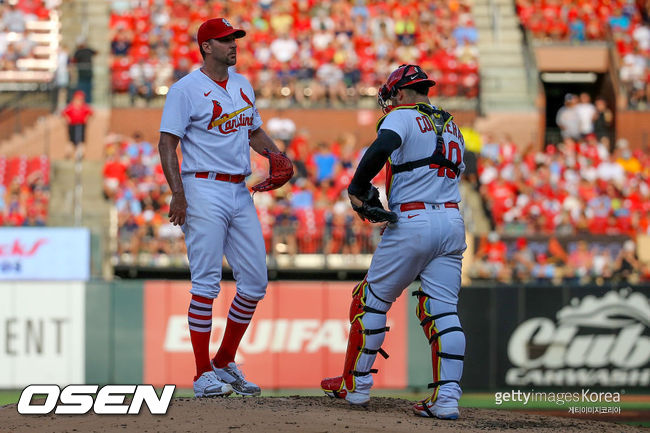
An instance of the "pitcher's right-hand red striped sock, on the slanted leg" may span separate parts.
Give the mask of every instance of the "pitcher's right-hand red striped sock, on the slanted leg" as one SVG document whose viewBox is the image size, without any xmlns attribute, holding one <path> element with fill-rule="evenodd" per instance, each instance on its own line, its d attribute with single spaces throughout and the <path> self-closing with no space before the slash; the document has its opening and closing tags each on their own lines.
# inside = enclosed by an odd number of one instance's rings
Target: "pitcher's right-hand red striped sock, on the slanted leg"
<svg viewBox="0 0 650 433">
<path fill-rule="evenodd" d="M 235 295 L 228 312 L 228 322 L 226 323 L 226 331 L 223 334 L 221 346 L 213 359 L 215 367 L 223 368 L 228 363 L 235 361 L 235 353 L 248 328 L 248 324 L 253 318 L 257 302 L 243 298 L 239 293 Z"/>
</svg>

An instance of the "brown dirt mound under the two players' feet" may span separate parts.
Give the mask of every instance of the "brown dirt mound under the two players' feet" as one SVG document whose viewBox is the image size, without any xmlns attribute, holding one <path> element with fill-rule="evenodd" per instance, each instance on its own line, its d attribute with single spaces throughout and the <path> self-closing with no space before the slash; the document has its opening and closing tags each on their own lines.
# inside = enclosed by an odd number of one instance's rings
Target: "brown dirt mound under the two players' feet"
<svg viewBox="0 0 650 433">
<path fill-rule="evenodd" d="M 328 397 L 174 399 L 167 415 L 137 416 L 18 414 L 0 408 L 0 432 L 648 432 L 609 422 L 510 412 L 461 409 L 457 421 L 420 418 L 412 402 L 373 398 L 367 409 Z"/>
</svg>

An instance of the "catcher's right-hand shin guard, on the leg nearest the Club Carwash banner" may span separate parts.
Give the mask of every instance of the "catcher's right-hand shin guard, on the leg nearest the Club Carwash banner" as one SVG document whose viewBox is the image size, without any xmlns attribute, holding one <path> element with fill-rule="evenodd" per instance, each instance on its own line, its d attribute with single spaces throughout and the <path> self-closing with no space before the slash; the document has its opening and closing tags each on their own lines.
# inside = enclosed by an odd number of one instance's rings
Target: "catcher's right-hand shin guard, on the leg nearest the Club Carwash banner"
<svg viewBox="0 0 650 433">
<path fill-rule="evenodd" d="M 431 345 L 433 388 L 431 400 L 438 397 L 440 387 L 447 385 L 449 397 L 460 398 L 460 379 L 465 359 L 465 333 L 460 327 L 456 306 L 427 296 L 421 289 L 413 292 L 418 297 L 416 314 L 420 326 Z"/>
</svg>

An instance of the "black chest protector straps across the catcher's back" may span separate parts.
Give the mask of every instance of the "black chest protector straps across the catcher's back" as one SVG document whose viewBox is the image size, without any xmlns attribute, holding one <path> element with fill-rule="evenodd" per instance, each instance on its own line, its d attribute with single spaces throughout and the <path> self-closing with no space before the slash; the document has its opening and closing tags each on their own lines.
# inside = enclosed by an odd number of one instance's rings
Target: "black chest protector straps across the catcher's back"
<svg viewBox="0 0 650 433">
<path fill-rule="evenodd" d="M 435 130 L 436 133 L 436 147 L 434 148 L 431 156 L 417 159 L 415 161 L 404 162 L 402 164 L 392 165 L 391 170 L 393 174 L 401 173 L 403 171 L 412 171 L 418 167 L 424 167 L 427 165 L 435 164 L 435 165 L 439 165 L 440 167 L 446 167 L 450 169 L 456 174 L 456 176 L 458 176 L 460 174 L 460 169 L 458 168 L 458 165 L 451 162 L 449 159 L 447 159 L 443 153 L 443 150 L 445 148 L 445 143 L 442 139 L 442 133 L 445 130 L 447 124 L 453 119 L 453 116 L 444 110 L 438 110 L 428 104 L 422 104 L 422 103 L 414 104 L 414 105 L 403 105 L 400 107 L 393 108 L 393 110 L 407 110 L 407 109 L 417 110 L 418 113 L 423 114 L 429 118 L 431 124 L 433 125 L 433 129 Z M 379 119 L 379 121 L 377 122 L 377 131 L 379 131 L 379 128 L 381 128 L 381 124 L 384 122 L 384 119 L 386 118 L 386 116 L 388 116 L 388 114 L 390 114 L 390 112 L 382 116 L 382 118 Z"/>
</svg>

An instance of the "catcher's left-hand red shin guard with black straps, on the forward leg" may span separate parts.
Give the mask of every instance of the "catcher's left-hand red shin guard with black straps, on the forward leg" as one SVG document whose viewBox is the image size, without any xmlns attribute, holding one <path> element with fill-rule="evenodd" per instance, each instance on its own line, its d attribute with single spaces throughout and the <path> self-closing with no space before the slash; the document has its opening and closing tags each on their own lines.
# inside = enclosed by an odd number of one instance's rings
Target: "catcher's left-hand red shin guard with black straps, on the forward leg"
<svg viewBox="0 0 650 433">
<path fill-rule="evenodd" d="M 372 368 L 379 353 L 384 358 L 388 354 L 381 348 L 386 331 L 386 312 L 391 303 L 377 298 L 366 280 L 359 283 L 352 292 L 350 305 L 350 336 L 343 365 L 343 383 L 348 391 L 354 391 L 358 386 L 357 378 L 368 388 L 372 386 L 371 373 L 377 373 Z"/>
</svg>

